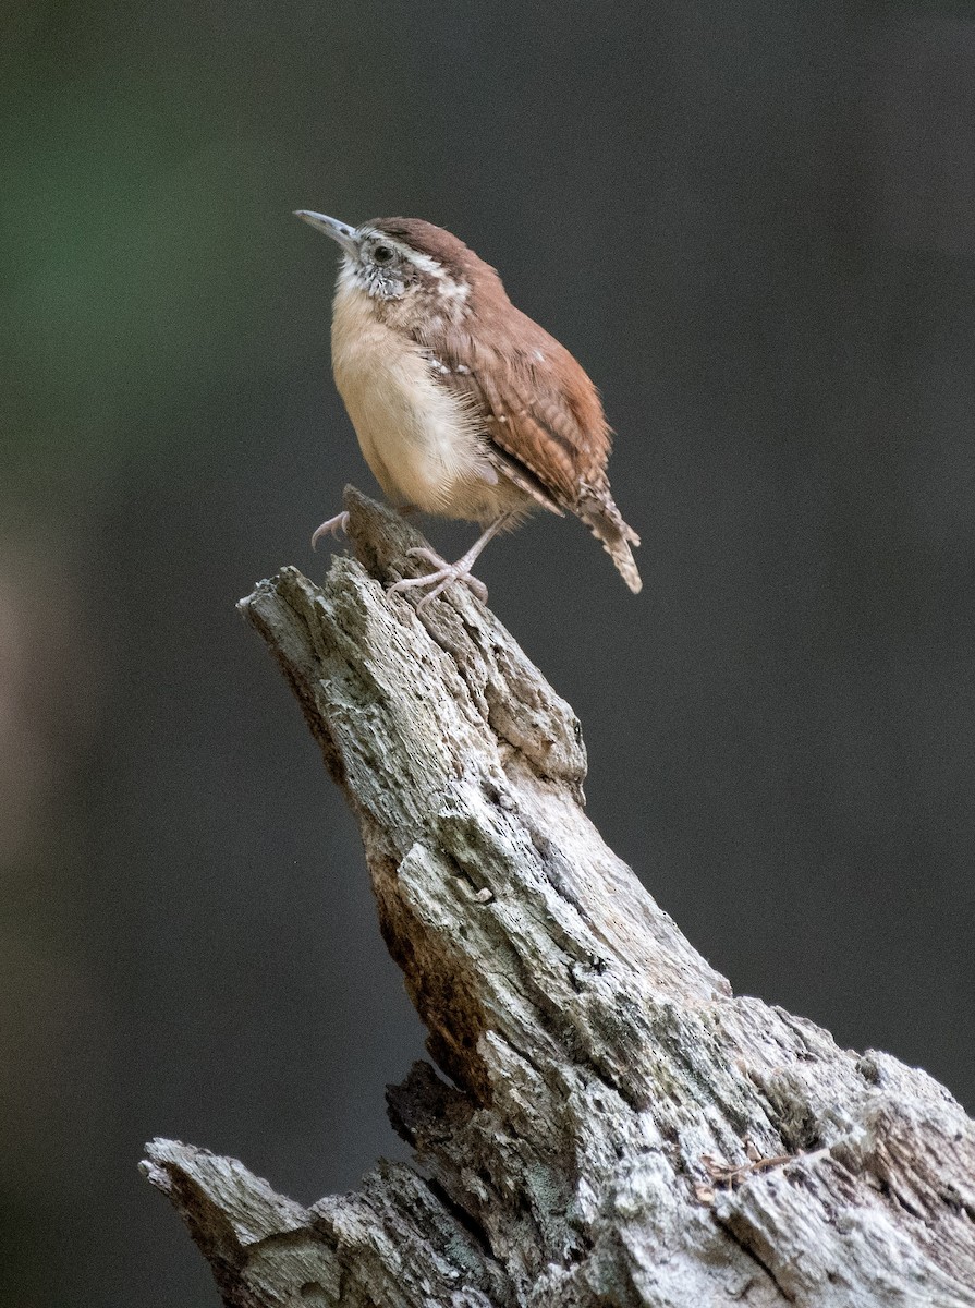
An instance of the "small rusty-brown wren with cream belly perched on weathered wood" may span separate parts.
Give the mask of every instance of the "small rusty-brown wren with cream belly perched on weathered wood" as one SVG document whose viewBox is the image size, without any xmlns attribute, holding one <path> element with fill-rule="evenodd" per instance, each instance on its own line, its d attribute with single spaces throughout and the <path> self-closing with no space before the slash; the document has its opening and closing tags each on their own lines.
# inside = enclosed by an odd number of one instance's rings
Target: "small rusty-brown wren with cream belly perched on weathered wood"
<svg viewBox="0 0 975 1308">
<path fill-rule="evenodd" d="M 391 590 L 471 576 L 502 528 L 541 506 L 586 523 L 633 591 L 639 536 L 613 504 L 610 429 L 599 392 L 559 343 L 508 300 L 501 277 L 463 241 L 422 218 L 350 228 L 324 213 L 297 217 L 342 247 L 332 315 L 332 368 L 362 454 L 393 505 L 485 526 L 463 557 Z M 345 527 L 345 514 L 323 522 Z"/>
</svg>

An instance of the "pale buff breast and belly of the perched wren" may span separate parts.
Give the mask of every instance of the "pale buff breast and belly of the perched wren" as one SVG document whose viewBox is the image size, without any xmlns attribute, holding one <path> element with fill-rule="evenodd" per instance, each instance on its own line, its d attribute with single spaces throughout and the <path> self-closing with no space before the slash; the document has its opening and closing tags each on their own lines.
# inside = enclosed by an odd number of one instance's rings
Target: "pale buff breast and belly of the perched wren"
<svg viewBox="0 0 975 1308">
<path fill-rule="evenodd" d="M 339 394 L 376 481 L 396 505 L 489 521 L 524 497 L 502 481 L 477 424 L 434 381 L 416 345 L 336 301 L 332 362 Z"/>
</svg>

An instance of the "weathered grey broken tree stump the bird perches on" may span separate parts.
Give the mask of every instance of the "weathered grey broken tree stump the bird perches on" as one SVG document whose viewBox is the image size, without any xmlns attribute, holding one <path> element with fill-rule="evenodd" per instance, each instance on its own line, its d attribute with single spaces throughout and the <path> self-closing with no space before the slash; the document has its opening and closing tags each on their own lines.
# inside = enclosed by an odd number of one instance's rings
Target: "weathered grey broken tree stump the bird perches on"
<svg viewBox="0 0 975 1308">
<path fill-rule="evenodd" d="M 242 608 L 359 820 L 440 1071 L 388 1093 L 416 1167 L 311 1209 L 149 1146 L 225 1301 L 975 1305 L 975 1125 L 732 995 L 586 818 L 569 705 L 464 587 L 387 595 L 422 538 L 346 508 L 354 559 Z"/>
</svg>

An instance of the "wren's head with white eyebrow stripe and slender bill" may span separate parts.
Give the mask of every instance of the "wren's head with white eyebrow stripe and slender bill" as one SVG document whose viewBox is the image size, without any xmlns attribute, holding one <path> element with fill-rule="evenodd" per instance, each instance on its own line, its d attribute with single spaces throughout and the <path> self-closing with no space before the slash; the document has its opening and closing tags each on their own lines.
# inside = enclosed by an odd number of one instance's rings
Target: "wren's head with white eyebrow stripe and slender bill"
<svg viewBox="0 0 975 1308">
<path fill-rule="evenodd" d="M 342 247 L 340 290 L 369 296 L 387 319 L 457 322 L 471 313 L 478 289 L 501 289 L 494 268 L 422 218 L 374 218 L 350 228 L 310 209 L 297 209 L 295 216 Z"/>
</svg>

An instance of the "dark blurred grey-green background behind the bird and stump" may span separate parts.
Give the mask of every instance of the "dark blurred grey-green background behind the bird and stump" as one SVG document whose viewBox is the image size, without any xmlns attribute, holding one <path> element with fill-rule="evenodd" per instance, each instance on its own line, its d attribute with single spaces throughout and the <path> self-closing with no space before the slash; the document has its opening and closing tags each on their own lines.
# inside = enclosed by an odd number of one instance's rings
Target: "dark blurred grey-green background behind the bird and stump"
<svg viewBox="0 0 975 1308">
<path fill-rule="evenodd" d="M 588 368 L 643 594 L 554 519 L 480 574 L 592 818 L 737 991 L 974 1105 L 971 5 L 8 0 L 0 51 L 7 1301 L 217 1304 L 153 1134 L 302 1201 L 401 1156 L 422 1032 L 234 612 L 374 489 L 298 207 L 451 228 Z"/>
</svg>

